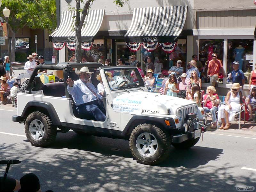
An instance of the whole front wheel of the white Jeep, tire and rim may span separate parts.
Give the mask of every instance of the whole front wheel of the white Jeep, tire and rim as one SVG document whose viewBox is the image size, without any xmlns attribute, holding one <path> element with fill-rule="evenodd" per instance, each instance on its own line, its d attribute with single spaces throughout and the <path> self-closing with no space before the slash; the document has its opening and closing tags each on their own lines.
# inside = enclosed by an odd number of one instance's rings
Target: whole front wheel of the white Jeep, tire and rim
<svg viewBox="0 0 256 192">
<path fill-rule="evenodd" d="M 154 165 L 170 154 L 171 137 L 155 125 L 140 124 L 132 130 L 129 146 L 141 164 Z"/>
</svg>

